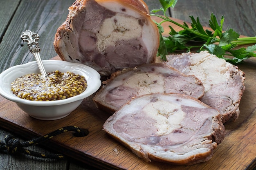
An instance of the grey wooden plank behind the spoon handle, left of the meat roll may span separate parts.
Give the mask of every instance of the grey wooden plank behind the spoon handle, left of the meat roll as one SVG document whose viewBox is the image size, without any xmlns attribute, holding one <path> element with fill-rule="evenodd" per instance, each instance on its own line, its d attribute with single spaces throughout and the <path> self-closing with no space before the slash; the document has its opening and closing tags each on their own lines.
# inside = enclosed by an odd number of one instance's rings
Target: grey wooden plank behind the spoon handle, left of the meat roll
<svg viewBox="0 0 256 170">
<path fill-rule="evenodd" d="M 8 1 L 7 1 L 8 2 Z M 46 60 L 56 55 L 53 47 L 54 35 L 68 14 L 73 0 L 22 0 L 13 16 L 0 44 L 0 72 L 34 60 L 27 45 L 22 47 L 20 35 L 30 29 L 40 35 L 38 41 L 41 58 Z"/>
</svg>

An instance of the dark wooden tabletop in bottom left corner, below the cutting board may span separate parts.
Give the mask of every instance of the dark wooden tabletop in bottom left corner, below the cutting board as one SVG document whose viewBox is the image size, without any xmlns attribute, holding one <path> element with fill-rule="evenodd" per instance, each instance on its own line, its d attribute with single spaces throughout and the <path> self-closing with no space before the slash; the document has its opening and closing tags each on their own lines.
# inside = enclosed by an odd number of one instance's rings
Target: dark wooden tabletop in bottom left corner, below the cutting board
<svg viewBox="0 0 256 170">
<path fill-rule="evenodd" d="M 6 135 L 12 135 L 8 130 L 0 129 L 0 140 L 4 140 Z M 15 136 L 16 139 L 20 142 L 24 141 L 21 138 Z M 31 139 L 31 138 L 30 138 Z M 38 146 L 27 147 L 26 149 L 33 150 L 35 152 L 53 154 L 49 150 Z M 23 154 L 18 155 L 8 155 L 7 153 L 0 154 L 0 170 L 98 170 L 97 168 L 91 167 L 75 159 L 70 159 L 69 157 L 63 160 L 52 160 L 52 159 L 43 159 L 30 157 Z"/>
</svg>

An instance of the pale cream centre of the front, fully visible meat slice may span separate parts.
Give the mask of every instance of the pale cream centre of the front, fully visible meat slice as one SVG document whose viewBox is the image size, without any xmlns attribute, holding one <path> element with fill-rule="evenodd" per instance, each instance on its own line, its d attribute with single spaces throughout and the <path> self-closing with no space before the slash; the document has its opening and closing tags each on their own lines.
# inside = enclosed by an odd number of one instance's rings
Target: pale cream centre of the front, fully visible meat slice
<svg viewBox="0 0 256 170">
<path fill-rule="evenodd" d="M 154 124 L 158 129 L 157 135 L 168 135 L 173 130 L 180 128 L 180 122 L 185 117 L 180 105 L 159 99 L 156 102 L 148 103 L 143 111 L 153 119 L 157 117 L 155 119 L 157 122 Z"/>
</svg>

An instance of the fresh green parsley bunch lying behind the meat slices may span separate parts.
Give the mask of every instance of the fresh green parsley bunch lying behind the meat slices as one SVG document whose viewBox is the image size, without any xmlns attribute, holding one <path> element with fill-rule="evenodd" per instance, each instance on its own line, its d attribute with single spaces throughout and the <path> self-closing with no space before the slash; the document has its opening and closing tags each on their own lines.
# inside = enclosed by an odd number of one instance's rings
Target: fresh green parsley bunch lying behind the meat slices
<svg viewBox="0 0 256 170">
<path fill-rule="evenodd" d="M 158 48 L 157 56 L 160 56 L 162 59 L 166 60 L 166 55 L 168 53 L 173 53 L 175 51 L 191 51 L 191 49 L 197 49 L 198 51 L 207 50 L 209 53 L 216 55 L 219 58 L 225 59 L 227 62 L 232 64 L 237 64 L 249 57 L 256 57 L 256 37 L 245 37 L 239 38 L 239 34 L 236 33 L 233 29 L 227 29 L 222 31 L 222 26 L 224 22 L 224 16 L 220 20 L 220 24 L 216 19 L 216 16 L 212 13 L 209 20 L 209 26 L 213 31 L 204 30 L 200 24 L 199 18 L 191 18 L 191 27 L 184 22 L 179 24 L 166 15 L 166 11 L 169 7 L 174 7 L 177 0 L 159 0 L 162 4 L 160 9 L 155 9 L 151 12 L 156 13 L 158 11 L 164 12 L 164 15 L 157 15 L 159 18 L 162 18 L 162 22 L 155 22 L 159 29 L 160 33 L 160 44 Z M 175 31 L 172 26 L 169 26 L 171 31 L 169 32 L 168 37 L 163 37 L 162 33 L 164 32 L 163 22 L 171 22 L 177 26 L 183 28 L 182 31 Z M 193 42 L 193 43 L 191 43 Z M 191 45 L 199 44 L 199 45 Z M 255 44 L 248 46 L 247 49 L 236 48 L 239 45 L 246 44 Z M 231 57 L 225 57 L 231 56 Z"/>
</svg>

